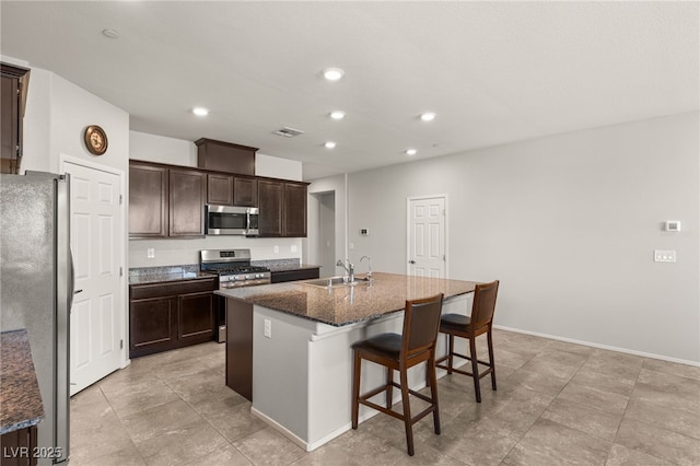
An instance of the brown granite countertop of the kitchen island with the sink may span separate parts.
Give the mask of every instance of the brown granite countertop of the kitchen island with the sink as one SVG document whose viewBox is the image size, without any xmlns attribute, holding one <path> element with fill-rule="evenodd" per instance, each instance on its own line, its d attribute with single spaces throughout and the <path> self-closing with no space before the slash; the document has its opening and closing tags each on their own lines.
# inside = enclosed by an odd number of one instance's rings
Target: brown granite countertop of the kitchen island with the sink
<svg viewBox="0 0 700 466">
<path fill-rule="evenodd" d="M 361 278 L 363 276 L 359 276 Z M 323 288 L 305 281 L 237 288 L 215 293 L 340 327 L 402 311 L 407 300 L 474 292 L 475 281 L 374 272 L 373 281 Z"/>
</svg>

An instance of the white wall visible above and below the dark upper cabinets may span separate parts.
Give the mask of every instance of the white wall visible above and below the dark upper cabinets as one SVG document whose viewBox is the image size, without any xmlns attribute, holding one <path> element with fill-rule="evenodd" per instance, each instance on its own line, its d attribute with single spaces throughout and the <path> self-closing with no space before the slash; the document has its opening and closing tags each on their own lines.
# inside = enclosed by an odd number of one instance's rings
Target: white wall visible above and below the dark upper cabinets
<svg viewBox="0 0 700 466">
<path fill-rule="evenodd" d="M 131 131 L 131 159 L 197 166 L 197 145 L 192 141 Z M 256 154 L 256 175 L 301 180 L 301 162 Z M 275 252 L 277 246 L 277 253 Z M 155 257 L 149 259 L 147 249 Z M 130 240 L 129 267 L 158 267 L 198 264 L 200 249 L 248 248 L 253 260 L 301 259 L 302 238 L 246 238 L 244 236 L 207 236 L 203 238 Z M 295 251 L 292 251 L 295 249 Z"/>
</svg>

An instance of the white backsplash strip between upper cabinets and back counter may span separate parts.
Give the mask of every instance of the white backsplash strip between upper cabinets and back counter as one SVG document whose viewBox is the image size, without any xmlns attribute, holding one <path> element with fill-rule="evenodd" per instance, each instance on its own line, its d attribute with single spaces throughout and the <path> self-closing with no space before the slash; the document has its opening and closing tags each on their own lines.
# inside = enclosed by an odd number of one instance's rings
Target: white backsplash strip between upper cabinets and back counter
<svg viewBox="0 0 700 466">
<path fill-rule="evenodd" d="M 207 236 L 194 240 L 130 240 L 129 268 L 199 264 L 201 249 L 250 249 L 250 259 L 293 260 L 302 258 L 302 238 Z M 153 249 L 153 258 L 148 257 Z"/>
</svg>

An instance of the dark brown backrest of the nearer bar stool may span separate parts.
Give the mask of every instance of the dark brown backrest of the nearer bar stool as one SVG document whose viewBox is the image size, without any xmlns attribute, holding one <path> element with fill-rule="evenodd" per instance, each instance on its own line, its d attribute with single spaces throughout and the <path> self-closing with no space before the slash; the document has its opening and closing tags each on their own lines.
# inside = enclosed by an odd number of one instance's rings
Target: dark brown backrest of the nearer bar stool
<svg viewBox="0 0 700 466">
<path fill-rule="evenodd" d="M 443 294 L 406 301 L 401 352 L 405 357 L 424 352 L 435 346 L 440 329 Z"/>
</svg>

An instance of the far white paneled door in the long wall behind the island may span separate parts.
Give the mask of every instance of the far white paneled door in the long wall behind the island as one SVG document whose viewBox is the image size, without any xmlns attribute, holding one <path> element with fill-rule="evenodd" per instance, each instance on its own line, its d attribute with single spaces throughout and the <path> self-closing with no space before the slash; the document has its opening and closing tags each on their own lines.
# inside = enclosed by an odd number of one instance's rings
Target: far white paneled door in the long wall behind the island
<svg viewBox="0 0 700 466">
<path fill-rule="evenodd" d="M 445 203 L 444 196 L 408 199 L 408 275 L 445 278 Z"/>
</svg>

